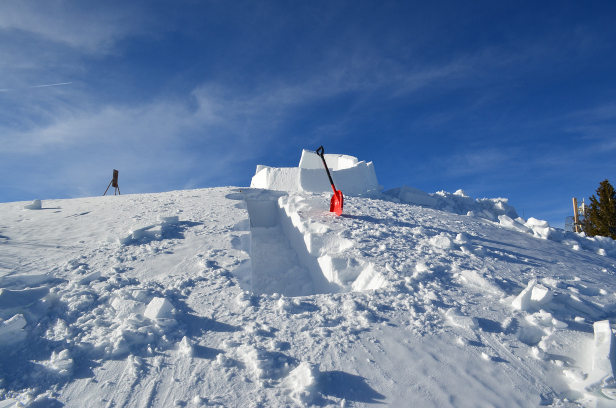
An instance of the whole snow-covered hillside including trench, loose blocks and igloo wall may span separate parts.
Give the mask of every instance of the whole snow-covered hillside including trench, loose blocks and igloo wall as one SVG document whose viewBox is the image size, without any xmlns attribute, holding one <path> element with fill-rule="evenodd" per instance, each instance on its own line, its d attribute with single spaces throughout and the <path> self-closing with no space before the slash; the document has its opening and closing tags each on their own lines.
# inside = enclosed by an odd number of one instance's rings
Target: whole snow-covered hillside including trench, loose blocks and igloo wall
<svg viewBox="0 0 616 408">
<path fill-rule="evenodd" d="M 614 240 L 325 158 L 0 203 L 0 407 L 616 406 Z"/>
</svg>

